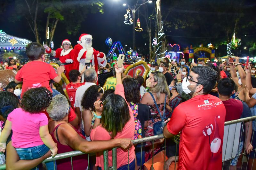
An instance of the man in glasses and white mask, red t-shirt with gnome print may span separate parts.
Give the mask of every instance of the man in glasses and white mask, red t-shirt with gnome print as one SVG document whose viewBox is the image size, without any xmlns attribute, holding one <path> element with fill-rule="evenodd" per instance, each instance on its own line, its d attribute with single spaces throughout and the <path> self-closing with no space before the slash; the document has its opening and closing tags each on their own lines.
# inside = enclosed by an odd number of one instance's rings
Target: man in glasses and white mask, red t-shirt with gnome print
<svg viewBox="0 0 256 170">
<path fill-rule="evenodd" d="M 217 73 L 204 66 L 193 67 L 182 81 L 183 91 L 192 98 L 174 109 L 163 132 L 165 138 L 181 132 L 178 169 L 221 169 L 226 109 L 209 95 L 216 81 Z"/>
</svg>

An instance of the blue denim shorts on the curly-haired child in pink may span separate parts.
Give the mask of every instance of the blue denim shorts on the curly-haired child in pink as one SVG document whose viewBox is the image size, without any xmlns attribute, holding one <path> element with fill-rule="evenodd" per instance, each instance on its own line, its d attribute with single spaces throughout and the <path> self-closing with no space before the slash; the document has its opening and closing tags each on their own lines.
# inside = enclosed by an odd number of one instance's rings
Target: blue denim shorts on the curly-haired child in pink
<svg viewBox="0 0 256 170">
<path fill-rule="evenodd" d="M 41 158 L 50 149 L 46 145 L 39 145 L 30 148 L 16 148 L 16 151 L 21 160 L 32 160 Z"/>
</svg>

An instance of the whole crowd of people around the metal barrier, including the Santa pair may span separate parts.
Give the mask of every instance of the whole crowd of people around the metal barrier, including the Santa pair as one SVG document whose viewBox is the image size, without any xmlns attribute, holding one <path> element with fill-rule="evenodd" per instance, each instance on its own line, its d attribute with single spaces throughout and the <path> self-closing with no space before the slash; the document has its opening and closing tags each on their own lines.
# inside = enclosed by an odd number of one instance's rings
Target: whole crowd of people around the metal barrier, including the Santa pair
<svg viewBox="0 0 256 170">
<path fill-rule="evenodd" d="M 89 35 L 83 36 L 80 43 L 92 43 Z M 88 55 L 71 49 L 68 39 L 55 51 L 30 43 L 28 63 L 15 68 L 16 61 L 9 59 L 6 69 L 18 72 L 15 81 L 0 92 L 0 148 L 6 151 L 0 156 L 6 157 L 8 169 L 36 169 L 47 157 L 74 150 L 96 155 L 73 157 L 72 165 L 69 158 L 50 161 L 47 169 L 104 169 L 103 151 L 114 147 L 118 147 L 119 170 L 140 166 L 167 170 L 174 168 L 175 160 L 178 169 L 221 169 L 224 122 L 256 115 L 256 68 L 254 63 L 239 62 L 238 57 L 213 63 L 164 58 L 148 63 L 145 80 L 125 75 L 124 66 L 100 60 L 104 53 L 87 50 L 87 54 L 95 53 L 93 60 L 99 59 L 90 65 Z M 45 63 L 45 50 L 59 57 L 63 66 L 54 70 Z M 75 64 L 71 54 L 83 61 L 76 63 L 76 69 L 71 67 Z M 64 71 L 70 83 L 63 90 Z M 106 80 L 106 87 L 97 85 L 98 74 L 110 71 L 114 76 Z M 248 168 L 256 169 L 255 121 L 245 122 L 241 129 L 230 169 L 241 168 L 241 152 L 248 156 Z M 162 133 L 166 142 L 131 142 Z M 152 167 L 153 155 L 154 162 L 159 155 L 161 159 Z M 108 165 L 112 166 L 112 151 Z"/>
</svg>

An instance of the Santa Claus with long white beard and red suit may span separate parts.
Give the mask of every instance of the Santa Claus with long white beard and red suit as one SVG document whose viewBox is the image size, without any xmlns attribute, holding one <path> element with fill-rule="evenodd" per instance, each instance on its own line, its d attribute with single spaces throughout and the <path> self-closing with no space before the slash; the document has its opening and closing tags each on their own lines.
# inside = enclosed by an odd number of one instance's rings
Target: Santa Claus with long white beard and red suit
<svg viewBox="0 0 256 170">
<path fill-rule="evenodd" d="M 78 44 L 74 47 L 74 69 L 81 72 L 85 65 L 92 65 L 95 67 L 95 71 L 97 73 L 98 65 L 102 67 L 106 66 L 106 55 L 92 48 L 92 35 L 81 34 L 77 43 Z M 84 75 L 82 75 L 82 82 L 83 81 Z"/>
</svg>

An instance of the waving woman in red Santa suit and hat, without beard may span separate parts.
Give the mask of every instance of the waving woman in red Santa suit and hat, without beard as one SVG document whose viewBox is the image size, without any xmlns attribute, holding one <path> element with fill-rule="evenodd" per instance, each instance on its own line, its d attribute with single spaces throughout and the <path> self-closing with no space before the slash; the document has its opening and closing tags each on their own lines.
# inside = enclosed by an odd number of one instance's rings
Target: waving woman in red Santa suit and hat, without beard
<svg viewBox="0 0 256 170">
<path fill-rule="evenodd" d="M 73 57 L 74 57 L 74 50 L 71 46 L 71 42 L 68 39 L 64 39 L 61 44 L 61 48 L 56 49 L 55 51 L 49 48 L 46 44 L 44 45 L 46 49 L 46 53 L 51 54 L 53 57 L 60 58 L 60 62 L 65 67 L 65 75 L 69 80 L 69 72 L 73 69 Z M 70 80 L 69 80 L 70 81 Z"/>
</svg>

